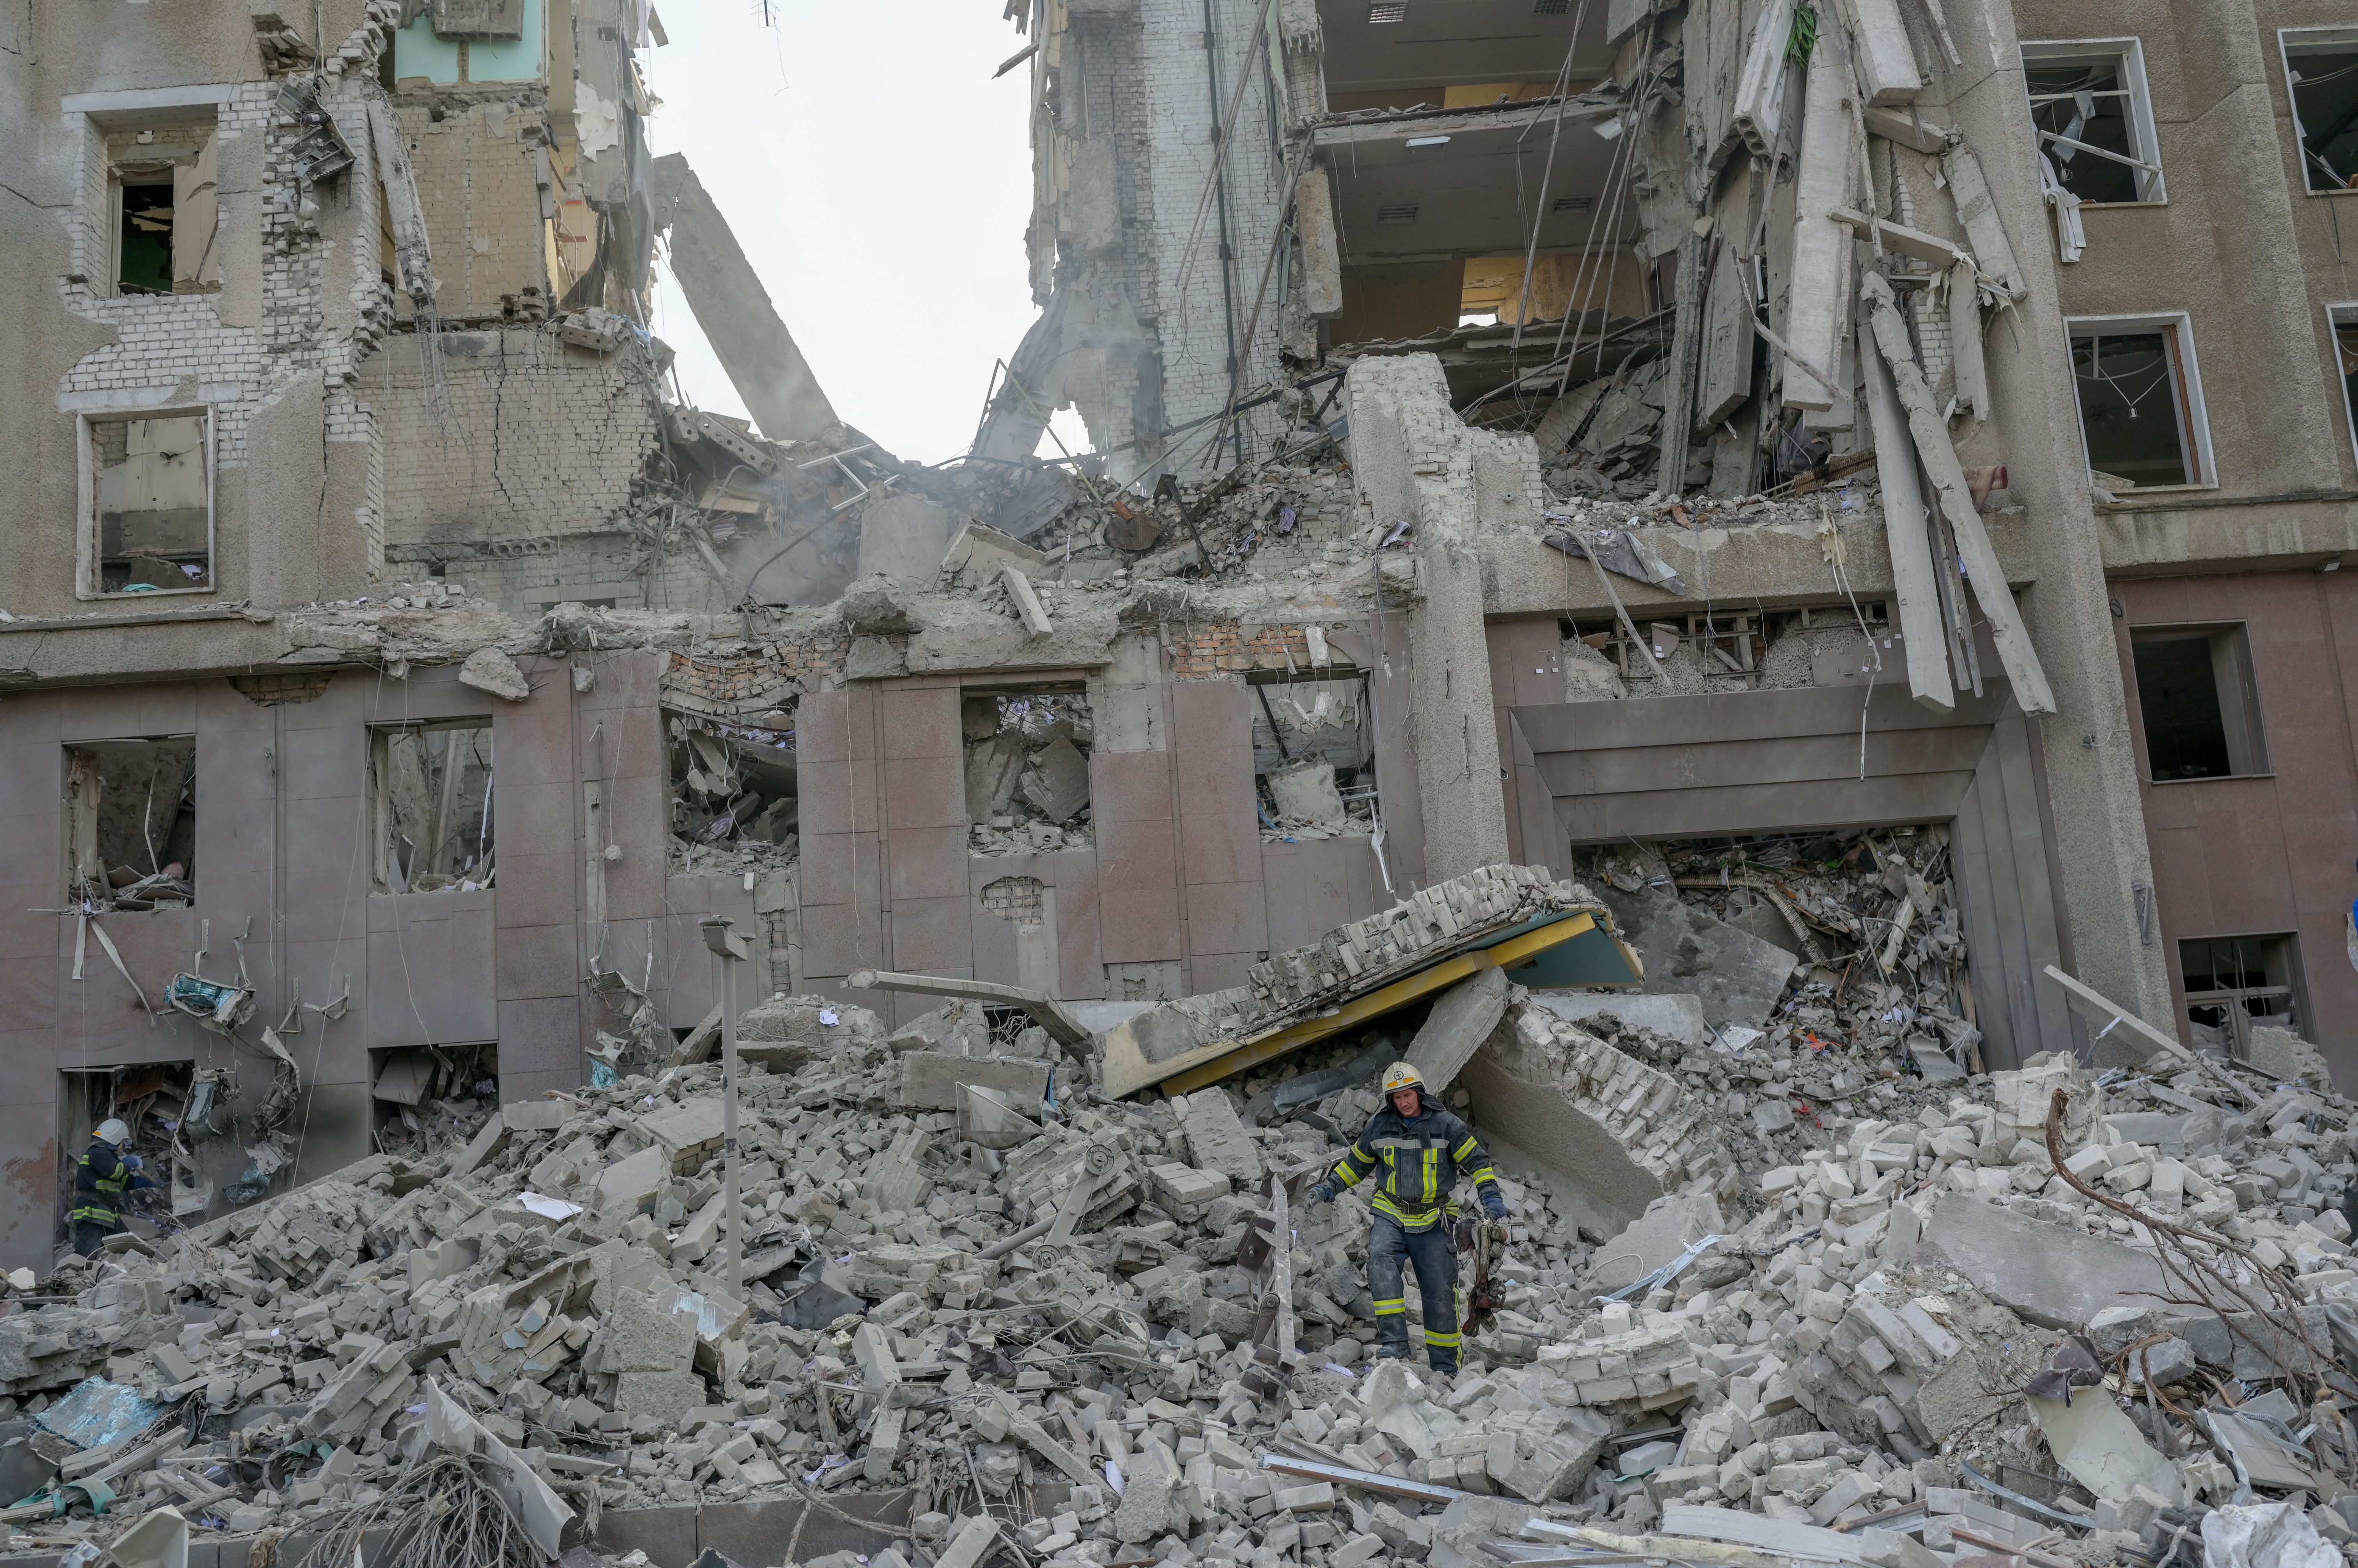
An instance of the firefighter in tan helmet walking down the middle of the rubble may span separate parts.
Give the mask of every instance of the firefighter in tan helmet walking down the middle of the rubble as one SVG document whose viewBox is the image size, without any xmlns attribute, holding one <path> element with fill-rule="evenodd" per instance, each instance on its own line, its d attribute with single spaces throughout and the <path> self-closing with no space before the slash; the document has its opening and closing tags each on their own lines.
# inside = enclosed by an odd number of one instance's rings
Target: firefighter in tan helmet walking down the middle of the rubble
<svg viewBox="0 0 2358 1568">
<path fill-rule="evenodd" d="M 1368 1292 L 1375 1297 L 1377 1356 L 1408 1356 L 1408 1285 L 1401 1266 L 1417 1271 L 1424 1297 L 1424 1356 L 1434 1372 L 1457 1372 L 1457 1250 L 1450 1238 L 1448 1195 L 1464 1174 L 1490 1219 L 1507 1217 L 1490 1153 L 1460 1118 L 1431 1103 L 1424 1075 L 1405 1061 L 1384 1068 L 1389 1101 L 1358 1134 L 1342 1162 L 1311 1188 L 1311 1203 L 1332 1203 L 1361 1177 L 1382 1167 L 1375 1186 L 1375 1231 L 1368 1236 Z"/>
</svg>

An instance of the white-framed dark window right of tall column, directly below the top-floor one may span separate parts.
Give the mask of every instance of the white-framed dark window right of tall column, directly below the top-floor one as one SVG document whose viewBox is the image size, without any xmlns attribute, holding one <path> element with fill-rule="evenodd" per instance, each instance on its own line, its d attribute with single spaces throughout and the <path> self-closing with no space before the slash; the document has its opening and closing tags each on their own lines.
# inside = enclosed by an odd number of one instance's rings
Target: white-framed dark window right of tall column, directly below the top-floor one
<svg viewBox="0 0 2358 1568">
<path fill-rule="evenodd" d="M 2087 467 L 2106 490 L 2217 483 L 2202 377 L 2184 314 L 2070 323 Z"/>
</svg>

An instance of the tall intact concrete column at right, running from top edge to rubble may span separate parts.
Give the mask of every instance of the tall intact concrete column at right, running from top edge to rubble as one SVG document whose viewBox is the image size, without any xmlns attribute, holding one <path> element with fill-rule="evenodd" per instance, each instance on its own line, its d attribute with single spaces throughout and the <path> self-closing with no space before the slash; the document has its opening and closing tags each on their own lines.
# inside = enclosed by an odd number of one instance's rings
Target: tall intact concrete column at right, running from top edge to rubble
<svg viewBox="0 0 2358 1568">
<path fill-rule="evenodd" d="M 2080 446 L 2070 337 L 2056 302 L 2054 241 L 2035 163 L 2007 151 L 2030 137 L 2014 14 L 1997 0 L 1959 0 L 1948 14 L 1964 64 L 1931 92 L 1957 101 L 1926 108 L 1924 118 L 1955 125 L 1978 151 L 2026 285 L 2009 323 L 1988 335 L 1995 408 L 1959 455 L 2004 462 L 2030 521 L 2023 542 L 2037 564 L 2037 587 L 2023 615 L 2056 698 L 2056 712 L 2030 719 L 2030 729 L 2056 823 L 2063 962 L 2115 1002 L 2169 1026 L 2169 953 L 2158 927 L 2150 946 L 2139 941 L 2134 889 L 2153 884 L 2153 865 Z"/>
</svg>

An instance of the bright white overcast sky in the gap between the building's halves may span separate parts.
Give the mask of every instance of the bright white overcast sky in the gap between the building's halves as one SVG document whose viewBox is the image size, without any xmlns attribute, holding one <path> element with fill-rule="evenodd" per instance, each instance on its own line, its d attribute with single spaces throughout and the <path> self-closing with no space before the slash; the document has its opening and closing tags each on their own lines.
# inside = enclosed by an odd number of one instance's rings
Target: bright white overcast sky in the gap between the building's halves
<svg viewBox="0 0 2358 1568">
<path fill-rule="evenodd" d="M 776 26 L 759 0 L 658 5 L 653 149 L 703 177 L 837 417 L 898 457 L 953 457 L 1038 314 L 1030 71 L 990 78 L 1026 40 L 1000 0 L 769 9 Z M 656 335 L 691 401 L 745 413 L 667 274 Z"/>
</svg>

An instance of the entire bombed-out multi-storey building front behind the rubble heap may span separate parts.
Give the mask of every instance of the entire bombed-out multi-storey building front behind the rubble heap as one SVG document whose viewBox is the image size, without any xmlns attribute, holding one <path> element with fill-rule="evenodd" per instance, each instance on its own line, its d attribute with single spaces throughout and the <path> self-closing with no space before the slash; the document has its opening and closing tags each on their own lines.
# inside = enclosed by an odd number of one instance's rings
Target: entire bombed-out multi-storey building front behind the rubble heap
<svg viewBox="0 0 2358 1568">
<path fill-rule="evenodd" d="M 2238 17 L 1035 7 L 1042 316 L 927 469 L 653 156 L 651 9 L 33 7 L 0 1259 L 108 1113 L 193 1219 L 724 983 L 1113 1021 L 1497 863 L 1719 1040 L 2004 1068 L 2056 967 L 2349 1070 L 2346 40 Z"/>
</svg>

